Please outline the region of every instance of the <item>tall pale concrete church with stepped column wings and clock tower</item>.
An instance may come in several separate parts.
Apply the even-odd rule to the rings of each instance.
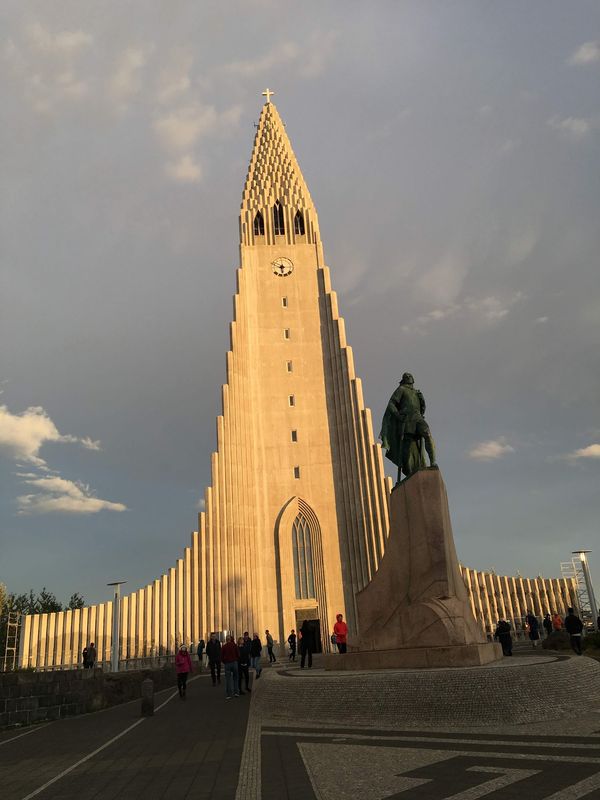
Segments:
[[[355,632],[356,593],[385,549],[391,480],[354,371],[317,212],[272,92],[264,94],[242,192],[227,382],[205,510],[175,566],[122,598],[121,659],[170,654],[211,631],[262,635],[268,628],[285,642],[305,619],[328,649],[336,614]],[[498,592],[485,573],[463,575],[476,617],[489,628],[500,607],[482,598]],[[562,610],[574,588],[553,583],[560,597],[553,608]],[[529,602],[545,613],[542,584],[527,597],[523,590]],[[106,602],[24,617],[19,665],[77,664],[89,642],[99,662],[109,662],[112,615]]]

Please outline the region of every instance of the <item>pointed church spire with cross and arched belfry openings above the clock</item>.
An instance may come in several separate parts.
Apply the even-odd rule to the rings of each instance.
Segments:
[[[292,145],[271,96],[258,120],[242,194],[242,244],[319,241],[317,214]]]

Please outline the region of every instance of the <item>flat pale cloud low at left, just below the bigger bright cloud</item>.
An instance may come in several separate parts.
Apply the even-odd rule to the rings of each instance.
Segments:
[[[65,480],[58,476],[37,477],[29,475],[25,480],[37,489],[35,494],[17,497],[19,514],[97,514],[99,511],[126,511],[123,503],[112,503],[94,497],[89,486]]]

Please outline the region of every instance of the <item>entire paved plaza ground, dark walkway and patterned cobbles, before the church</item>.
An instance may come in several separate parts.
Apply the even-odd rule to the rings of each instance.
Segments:
[[[600,800],[600,664],[528,651],[509,661],[491,668],[506,687],[505,721],[499,722],[498,698],[488,698],[496,716],[486,720],[482,698],[471,709],[473,720],[481,705],[477,724],[438,719],[425,697],[421,711],[417,702],[412,716],[396,714],[390,686],[408,687],[414,671],[348,681],[348,673],[325,673],[318,659],[310,671],[277,663],[264,669],[251,697],[229,701],[223,685],[213,689],[201,676],[185,702],[171,692],[157,695],[149,719],[139,717],[134,702],[5,731],[0,798]],[[566,705],[553,710],[551,693],[546,707],[530,704],[523,685],[532,676],[554,679],[559,673],[548,670],[571,667],[589,672],[587,697],[575,696],[571,711]],[[434,675],[440,689],[448,672]],[[467,682],[477,675],[467,673]],[[440,708],[448,708],[442,701]],[[517,702],[521,721],[515,724]]]

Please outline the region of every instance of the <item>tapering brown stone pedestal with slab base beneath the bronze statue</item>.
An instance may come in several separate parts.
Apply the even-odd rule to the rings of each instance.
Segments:
[[[440,471],[415,473],[390,503],[385,554],[357,595],[359,635],[346,655],[326,656],[325,668],[477,666],[501,658],[471,611]]]

